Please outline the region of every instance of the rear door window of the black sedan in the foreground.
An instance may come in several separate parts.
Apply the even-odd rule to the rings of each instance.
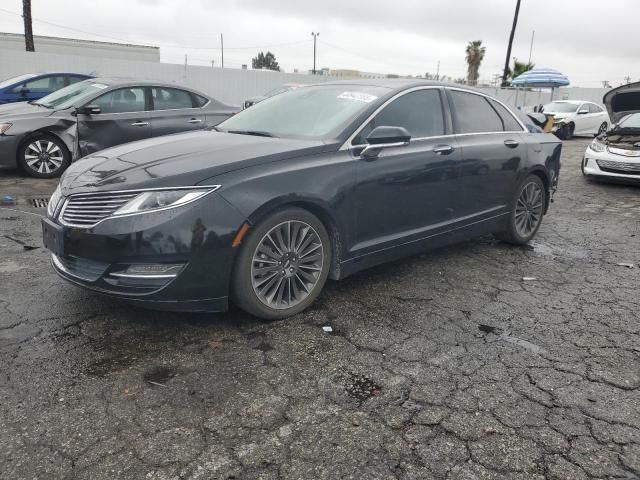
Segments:
[[[487,99],[473,93],[451,90],[458,122],[457,133],[502,132],[502,120]]]

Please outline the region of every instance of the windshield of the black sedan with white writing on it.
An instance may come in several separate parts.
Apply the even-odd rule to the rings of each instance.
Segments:
[[[218,125],[217,130],[313,140],[334,138],[389,91],[365,85],[296,88],[243,110]]]

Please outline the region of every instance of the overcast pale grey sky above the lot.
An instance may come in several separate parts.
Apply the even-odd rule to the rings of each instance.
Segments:
[[[152,44],[162,61],[251,64],[271,50],[285,71],[317,67],[466,76],[465,45],[482,40],[480,77],[500,73],[516,0],[32,0],[36,35]],[[21,0],[0,4],[0,31],[22,33]],[[572,85],[640,80],[640,0],[523,0],[512,57],[555,68]],[[63,28],[65,27],[65,28]],[[191,48],[196,47],[196,48]]]

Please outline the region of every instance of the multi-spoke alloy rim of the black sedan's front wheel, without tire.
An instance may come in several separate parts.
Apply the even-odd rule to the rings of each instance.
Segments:
[[[280,223],[262,237],[254,251],[253,291],[270,308],[291,308],[316,287],[323,262],[322,240],[311,225],[299,220]]]

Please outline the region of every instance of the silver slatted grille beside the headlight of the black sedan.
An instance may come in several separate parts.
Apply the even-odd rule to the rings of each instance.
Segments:
[[[62,223],[72,227],[92,227],[138,194],[104,192],[72,195],[62,208]]]

